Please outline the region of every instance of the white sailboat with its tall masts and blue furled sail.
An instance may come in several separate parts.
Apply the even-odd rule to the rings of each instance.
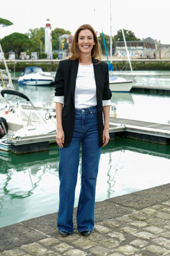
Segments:
[[[110,2],[111,2],[111,0],[110,0]],[[112,20],[112,17],[111,17],[111,20]],[[103,29],[102,29],[102,34],[103,34]],[[133,75],[131,60],[130,60],[128,48],[126,45],[126,40],[125,40],[123,29],[122,29],[122,34],[123,34],[124,44],[126,47],[128,61],[129,61],[130,67],[131,67],[132,75]],[[108,66],[109,66],[109,88],[111,89],[112,92],[129,93],[129,91],[131,90],[131,88],[133,86],[133,81],[127,81],[123,77],[114,76],[113,65],[112,65],[112,22],[111,22],[111,35],[110,35],[110,57],[111,57],[110,63],[108,60],[104,34],[103,34],[103,41],[104,41],[104,47],[105,47],[105,52],[106,52],[106,56],[107,56],[107,62],[108,62]]]

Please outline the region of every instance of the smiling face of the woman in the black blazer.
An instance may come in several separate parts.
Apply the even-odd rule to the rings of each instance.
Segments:
[[[93,33],[89,29],[81,30],[78,34],[77,45],[82,53],[91,52],[95,45]]]

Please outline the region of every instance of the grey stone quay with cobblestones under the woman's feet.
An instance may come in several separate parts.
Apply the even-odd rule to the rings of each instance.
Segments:
[[[28,209],[28,211],[31,209]],[[0,256],[170,256],[170,183],[95,203],[90,236],[61,236],[57,212],[0,228]]]

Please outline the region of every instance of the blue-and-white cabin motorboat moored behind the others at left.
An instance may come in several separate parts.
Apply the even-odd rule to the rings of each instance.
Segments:
[[[25,68],[18,79],[19,85],[51,85],[54,78],[50,72],[44,72],[40,67]]]

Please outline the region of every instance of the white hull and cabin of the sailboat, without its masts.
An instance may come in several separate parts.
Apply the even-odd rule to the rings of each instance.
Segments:
[[[117,93],[129,93],[133,86],[133,81],[127,81],[123,77],[109,76],[109,88]]]

